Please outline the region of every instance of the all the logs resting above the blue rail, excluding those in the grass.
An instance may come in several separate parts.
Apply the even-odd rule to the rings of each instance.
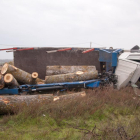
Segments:
[[[47,84],[85,81],[95,79],[98,71],[95,66],[47,66],[45,80],[38,78],[38,73],[23,71],[8,63],[4,64],[0,74],[0,89],[18,87],[21,84]]]

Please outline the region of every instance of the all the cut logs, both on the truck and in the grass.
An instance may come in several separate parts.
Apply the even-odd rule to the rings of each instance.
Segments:
[[[42,80],[38,78],[37,72],[30,74],[6,63],[1,69],[0,89],[4,87],[18,87],[21,84],[34,85],[91,80],[97,78],[98,72],[95,66],[47,66],[46,75],[45,80]],[[53,94],[0,96],[0,114],[11,112],[13,108],[19,106],[19,104],[29,106],[33,102],[73,100],[76,97],[84,96],[86,96],[85,92],[57,97],[53,96]]]

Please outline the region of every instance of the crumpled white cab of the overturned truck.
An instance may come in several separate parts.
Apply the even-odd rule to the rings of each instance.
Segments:
[[[118,89],[125,87],[129,82],[135,84],[140,77],[140,53],[122,53],[118,58],[115,74],[118,76]]]

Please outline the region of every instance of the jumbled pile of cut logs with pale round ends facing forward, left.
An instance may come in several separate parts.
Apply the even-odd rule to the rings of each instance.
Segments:
[[[0,89],[4,87],[18,87],[20,84],[43,84],[44,80],[38,78],[38,73],[32,74],[23,71],[8,63],[4,64],[0,74]]]

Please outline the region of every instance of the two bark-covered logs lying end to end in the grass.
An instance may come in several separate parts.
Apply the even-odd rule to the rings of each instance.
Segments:
[[[75,98],[85,96],[85,91],[56,97],[54,97],[53,94],[0,96],[0,114],[12,113],[18,108],[22,109],[23,107],[32,107],[37,103],[41,103],[41,105],[43,105],[53,101],[73,100]]]

